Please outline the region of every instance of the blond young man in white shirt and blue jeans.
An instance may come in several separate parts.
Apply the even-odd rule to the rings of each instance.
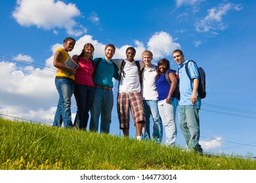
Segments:
[[[142,139],[150,139],[150,116],[153,118],[153,138],[156,142],[161,143],[163,139],[163,127],[160,114],[158,112],[158,90],[156,89],[156,80],[158,73],[157,66],[152,65],[153,54],[149,50],[142,53],[142,60],[145,67],[142,73],[141,95],[145,111],[146,124],[142,129]]]

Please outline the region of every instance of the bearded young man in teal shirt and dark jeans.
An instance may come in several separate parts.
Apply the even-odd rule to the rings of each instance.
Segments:
[[[90,130],[98,131],[98,119],[100,122],[100,133],[109,133],[111,124],[111,112],[114,105],[112,88],[114,87],[112,77],[119,79],[118,69],[114,66],[112,57],[116,47],[113,44],[105,46],[105,58],[96,66],[93,82],[95,84],[95,97],[91,107]],[[98,61],[98,58],[93,59]]]

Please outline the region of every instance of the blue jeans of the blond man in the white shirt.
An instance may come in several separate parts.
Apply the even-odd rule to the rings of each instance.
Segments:
[[[153,138],[156,139],[156,142],[161,143],[163,139],[163,126],[161,124],[160,114],[158,112],[158,101],[157,100],[144,100],[144,111],[146,126],[142,129],[142,139],[150,139],[150,116],[153,118]]]

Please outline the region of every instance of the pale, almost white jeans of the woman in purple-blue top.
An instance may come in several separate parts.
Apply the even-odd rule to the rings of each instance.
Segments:
[[[178,99],[171,97],[170,103],[164,101],[158,102],[158,110],[161,116],[161,121],[165,128],[165,144],[167,146],[174,146],[177,137],[177,127],[175,123],[176,110],[178,105]]]

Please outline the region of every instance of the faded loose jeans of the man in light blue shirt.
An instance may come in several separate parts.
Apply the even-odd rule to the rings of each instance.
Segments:
[[[200,123],[196,105],[179,106],[179,127],[190,150],[202,152],[199,144]]]

